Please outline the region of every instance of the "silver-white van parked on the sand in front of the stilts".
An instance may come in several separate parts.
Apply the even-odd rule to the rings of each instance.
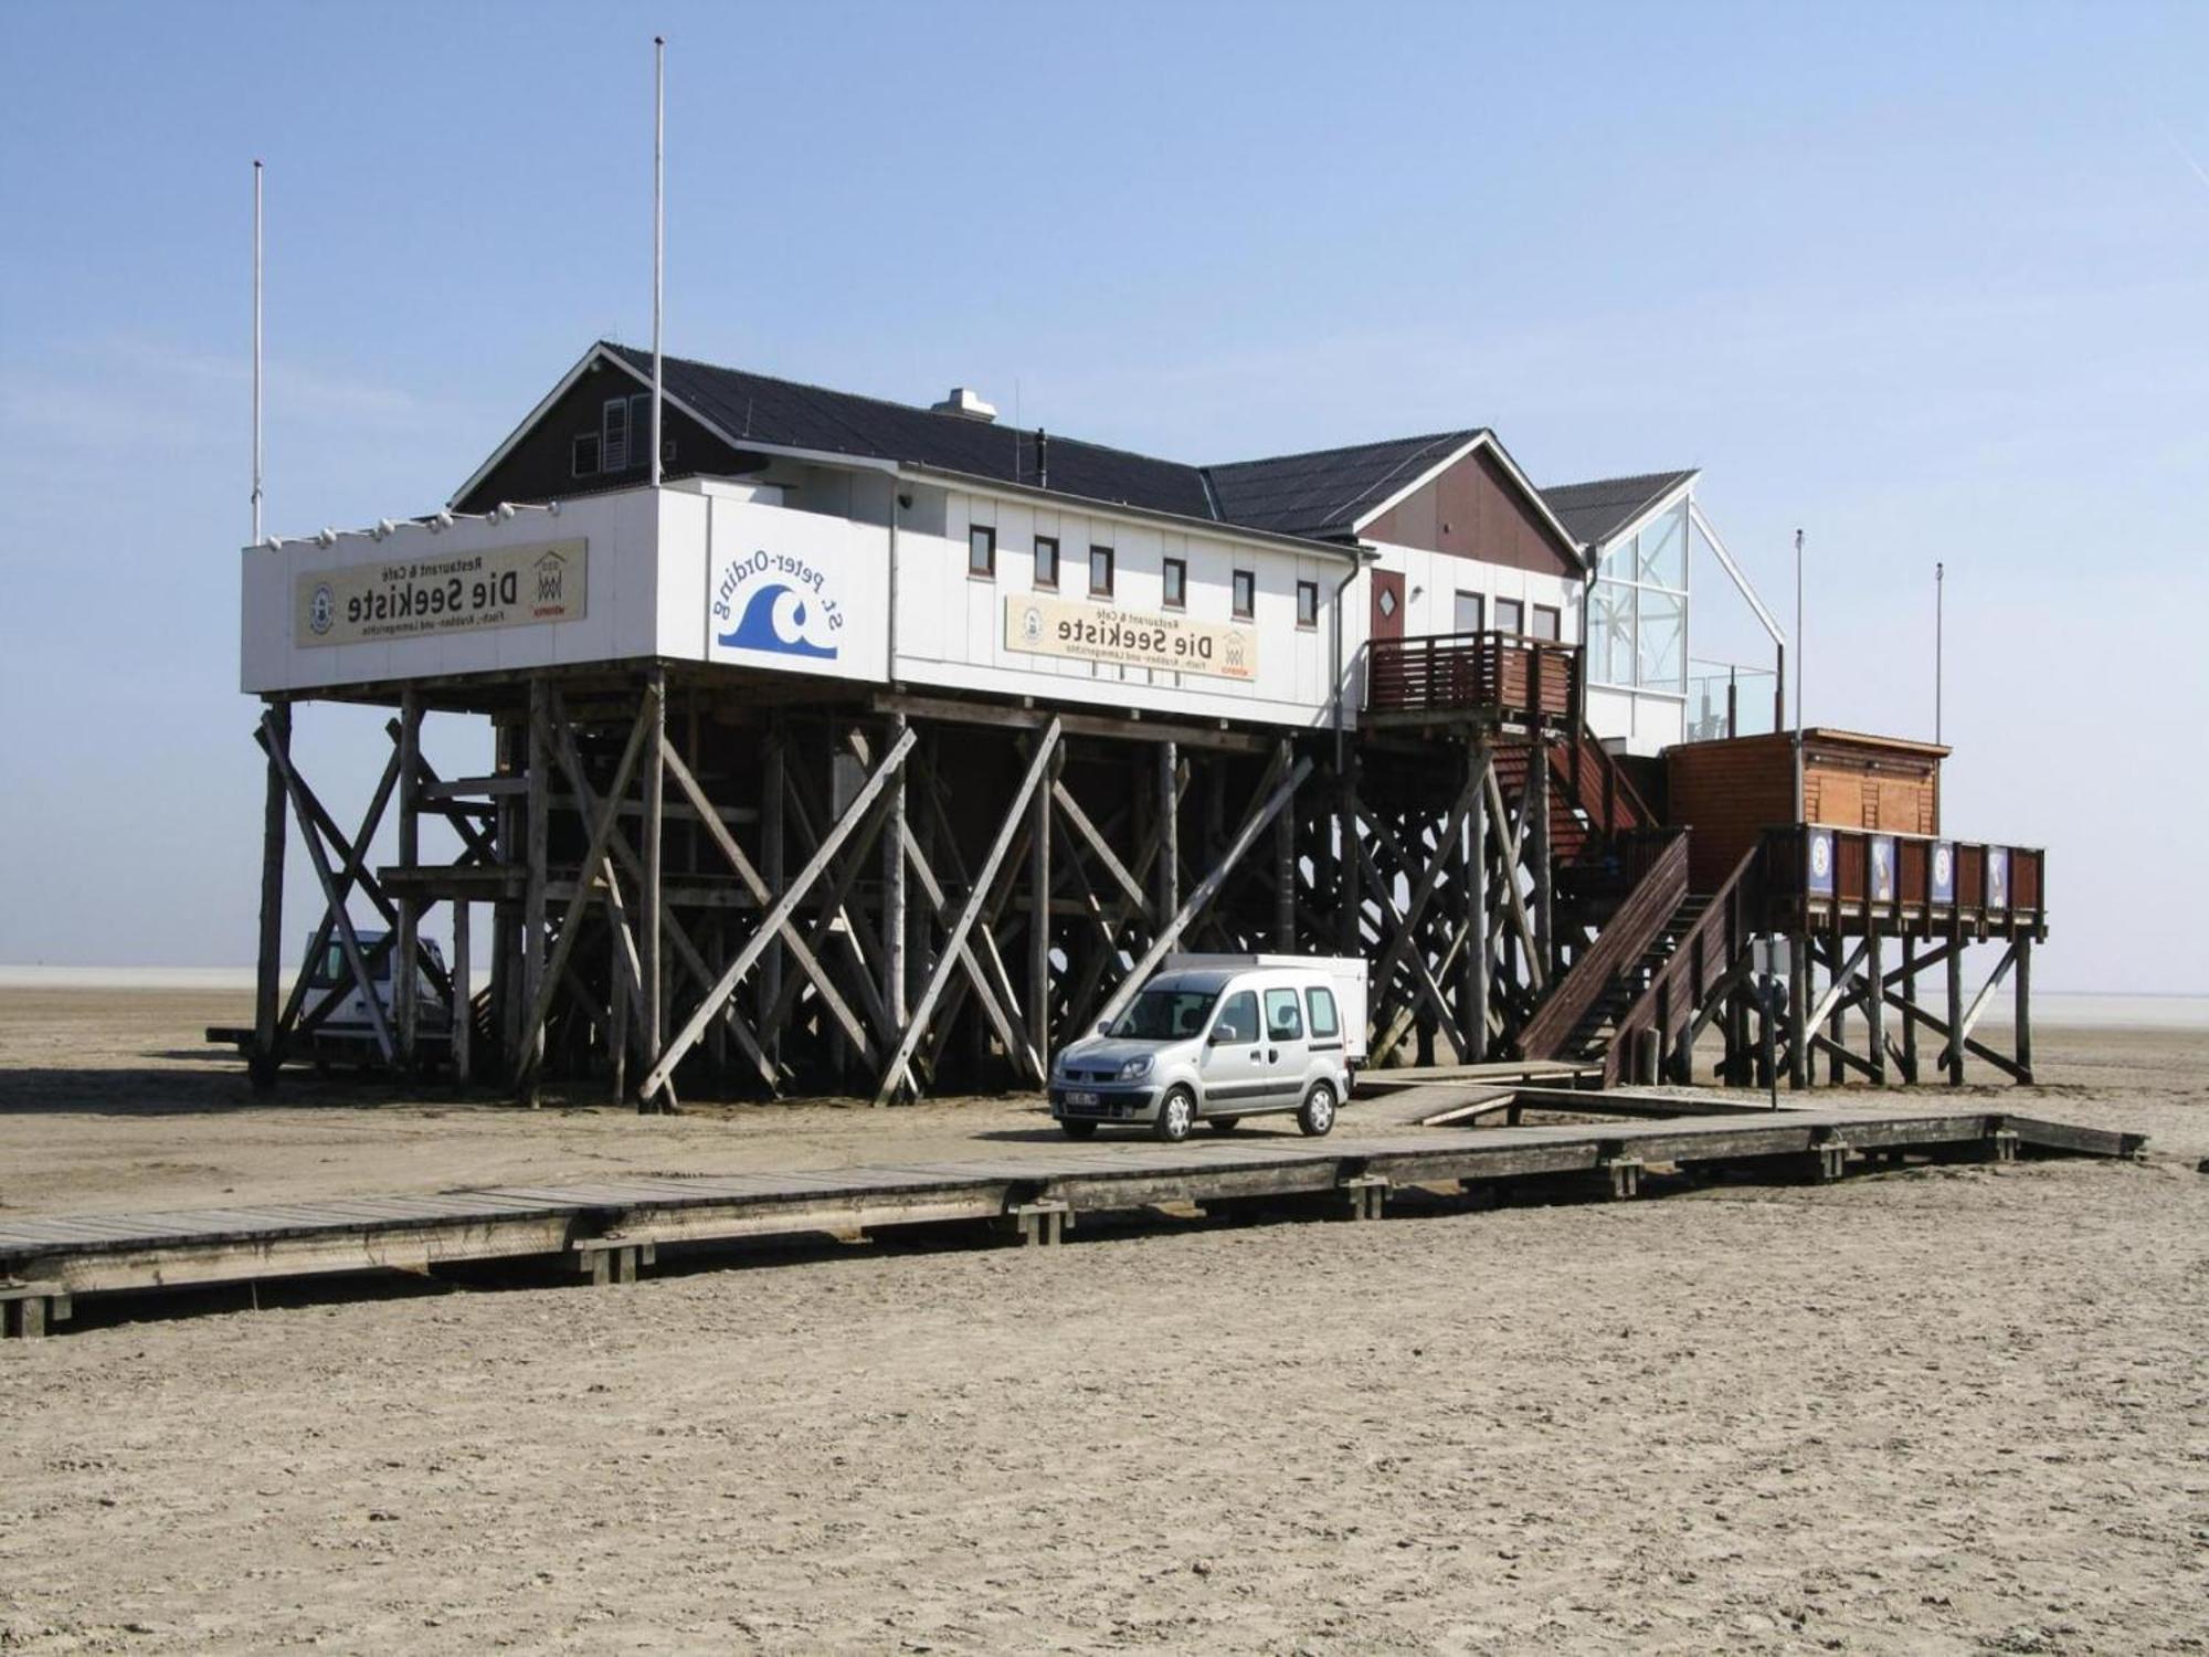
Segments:
[[[1186,1140],[1246,1116],[1325,1133],[1365,1056],[1365,963],[1303,954],[1169,957],[1127,1010],[1051,1065],[1051,1116]]]

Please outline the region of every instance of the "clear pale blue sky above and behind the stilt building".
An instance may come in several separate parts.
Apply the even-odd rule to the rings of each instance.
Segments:
[[[1809,535],[1831,725],[1931,733],[1944,559],[1946,828],[2050,848],[2041,985],[2209,988],[2209,4],[1862,0],[0,7],[0,961],[252,957],[252,157],[267,524],[426,510],[649,338],[654,31],[672,351],[1703,466],[1783,614]]]

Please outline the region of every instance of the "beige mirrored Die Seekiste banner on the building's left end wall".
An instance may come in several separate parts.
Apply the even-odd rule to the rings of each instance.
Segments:
[[[442,552],[296,581],[294,645],[358,645],[488,627],[581,621],[590,541],[537,541],[484,552]]]

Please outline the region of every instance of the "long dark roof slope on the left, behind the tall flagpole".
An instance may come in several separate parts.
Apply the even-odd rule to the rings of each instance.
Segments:
[[[607,345],[605,349],[638,373],[652,373],[649,351],[627,345]],[[895,460],[1001,484],[1038,486],[1034,431],[674,356],[663,358],[663,376],[669,398],[687,404],[736,444],[749,437],[780,448]],[[1175,517],[1213,517],[1204,477],[1195,466],[1131,455],[1124,448],[1085,444],[1056,433],[1043,453],[1054,495],[1118,502]]]

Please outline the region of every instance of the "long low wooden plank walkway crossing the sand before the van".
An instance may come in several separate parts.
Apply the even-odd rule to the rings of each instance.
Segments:
[[[1588,1096],[1586,1105],[1602,1109],[1604,1098]],[[552,1255],[594,1281],[630,1281],[663,1242],[990,1222],[1025,1242],[1049,1244],[1074,1215],[1155,1204],[1321,1195],[1339,1200],[1354,1217],[1376,1217],[1389,1189],[1414,1184],[1590,1175],[1599,1189],[1608,1182],[1610,1195],[1630,1197],[1639,1193],[1641,1169],[1652,1164],[1741,1162],[1840,1178],[1851,1160],[2010,1160],[2019,1147],[2129,1158],[2143,1144],[2136,1133],[2010,1111],[1789,1109],[1363,1140],[1067,1142],[903,1167],[627,1175],[440,1195],[0,1220],[0,1308],[11,1334],[42,1334],[71,1315],[75,1295],[263,1277],[426,1273],[477,1259]]]

